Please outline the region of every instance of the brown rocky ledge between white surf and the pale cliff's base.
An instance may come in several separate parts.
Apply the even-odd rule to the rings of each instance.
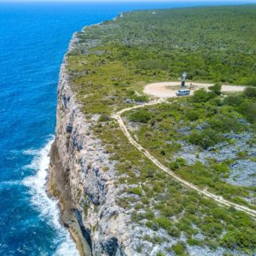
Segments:
[[[85,241],[73,209],[69,186],[63,176],[61,161],[55,146],[55,141],[51,145],[49,154],[49,195],[57,199],[58,205],[61,208],[61,224],[68,229],[79,251],[79,255],[91,256],[90,246]]]

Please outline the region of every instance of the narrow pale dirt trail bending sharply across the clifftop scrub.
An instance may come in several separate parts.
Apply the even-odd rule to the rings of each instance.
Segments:
[[[151,160],[154,163],[155,166],[159,167],[162,171],[164,171],[167,174],[174,177],[177,180],[177,182],[183,183],[183,185],[185,185],[187,188],[197,191],[199,194],[201,194],[201,195],[203,195],[207,198],[210,198],[213,201],[216,201],[220,205],[224,205],[226,207],[234,207],[238,211],[246,212],[247,214],[249,214],[253,217],[256,217],[256,211],[255,210],[250,209],[249,207],[244,207],[244,206],[238,205],[238,204],[233,203],[231,201],[227,201],[222,196],[214,195],[211,192],[208,192],[207,189],[200,189],[197,186],[195,186],[195,184],[189,183],[188,181],[184,180],[182,177],[177,176],[177,174],[175,174],[174,172],[171,171],[171,169],[169,169],[166,166],[164,166],[163,164],[161,164],[160,161],[157,160],[156,158],[154,158],[154,156],[152,154],[150,154],[147,149],[143,148],[142,145],[137,143],[131,137],[131,133],[128,131],[127,127],[125,126],[125,122],[121,117],[122,114],[127,112],[127,111],[131,111],[132,109],[143,108],[143,107],[146,107],[146,106],[152,106],[152,105],[155,105],[155,104],[160,104],[162,102],[165,102],[165,99],[161,98],[160,100],[155,100],[155,101],[152,101],[152,102],[143,103],[141,105],[137,105],[137,106],[134,106],[134,107],[131,107],[131,108],[124,108],[124,109],[120,110],[119,112],[113,114],[113,118],[118,121],[121,130],[124,132],[125,137],[127,137],[129,142],[132,145],[134,145],[140,152],[142,152],[149,160]]]

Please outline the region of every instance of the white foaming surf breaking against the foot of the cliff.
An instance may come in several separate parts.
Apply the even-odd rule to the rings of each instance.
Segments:
[[[32,160],[30,168],[36,171],[35,175],[26,177],[23,180],[23,184],[29,188],[29,192],[32,195],[32,206],[36,207],[40,212],[40,217],[44,218],[55,230],[56,239],[60,242],[54,255],[70,255],[77,256],[79,252],[76,248],[74,241],[72,240],[67,229],[60,223],[60,209],[55,199],[49,198],[47,195],[47,178],[49,167],[49,150],[54,141],[54,137],[51,137],[48,143],[37,152]],[[27,167],[27,166],[26,166]]]

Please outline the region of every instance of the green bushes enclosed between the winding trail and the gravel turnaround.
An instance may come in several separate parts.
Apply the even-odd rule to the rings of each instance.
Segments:
[[[195,95],[189,98],[135,109],[131,113],[126,113],[127,118],[130,122],[140,124],[136,132],[139,143],[178,175],[200,187],[206,186],[207,189],[230,201],[255,208],[243,199],[254,193],[255,189],[231,185],[223,180],[230,175],[229,165],[232,161],[217,162],[213,159],[208,160],[207,164],[197,161],[195,164],[187,165],[183,158],[177,157],[173,160],[173,154],[182,148],[180,143],[195,144],[199,146],[197,150],[200,152],[218,143],[234,143],[226,136],[230,132],[239,134],[250,131],[256,136],[253,119],[256,113],[254,116],[252,112],[244,111],[245,104],[256,104],[253,98],[256,88],[248,88],[250,93],[245,90],[240,95],[223,97],[216,93],[221,86],[212,87],[209,92],[197,90]],[[141,113],[147,113],[148,119],[131,118],[140,116]],[[244,119],[252,123],[242,121]],[[236,157],[247,159],[247,153],[237,152]]]

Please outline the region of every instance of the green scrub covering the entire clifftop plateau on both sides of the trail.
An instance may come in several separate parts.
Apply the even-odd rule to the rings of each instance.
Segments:
[[[254,5],[156,10],[154,14],[137,11],[77,34],[79,44],[67,55],[69,79],[86,117],[99,116],[93,123],[93,134],[116,163],[116,186],[125,188],[119,192],[118,203],[132,212],[131,222],[154,232],[164,229],[177,240],[183,232],[190,245],[223,246],[247,254],[256,250],[252,218],[185,189],[134,148],[111,118],[112,113],[131,107],[133,102],[148,102],[148,96],[137,93],[144,84],[177,79],[183,70],[193,80],[256,85],[255,14]],[[199,90],[192,98],[137,109],[127,113],[127,119],[139,126],[140,143],[166,165],[175,166],[177,174],[235,201],[234,195],[247,195],[248,191],[221,181],[220,177],[229,174],[227,164],[212,161],[209,166],[188,166],[183,159],[173,162],[170,155],[181,148],[180,141],[201,148],[231,143],[223,132],[251,129],[237,120],[255,123],[253,102],[248,91],[245,96],[223,100],[216,84],[210,92]],[[177,132],[186,125],[191,126],[195,141],[189,133]],[[241,236],[244,232],[248,236]],[[203,238],[196,240],[196,234]],[[163,241],[158,236],[141,239]],[[181,241],[168,250],[186,255]],[[137,252],[142,251],[137,247]]]

